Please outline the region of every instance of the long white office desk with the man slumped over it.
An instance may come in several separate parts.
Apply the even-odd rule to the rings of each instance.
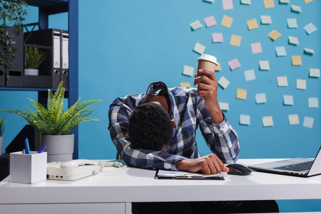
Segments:
[[[255,164],[282,159],[240,159]],[[321,176],[252,172],[225,181],[156,180],[155,171],[128,167],[118,175],[36,184],[0,182],[0,213],[131,213],[130,202],[321,199]],[[191,194],[191,192],[193,192]],[[72,211],[67,211],[72,210]],[[321,210],[320,210],[321,211]]]

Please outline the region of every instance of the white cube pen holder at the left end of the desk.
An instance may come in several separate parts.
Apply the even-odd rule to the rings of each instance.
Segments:
[[[32,184],[47,179],[47,152],[10,153],[10,182]]]

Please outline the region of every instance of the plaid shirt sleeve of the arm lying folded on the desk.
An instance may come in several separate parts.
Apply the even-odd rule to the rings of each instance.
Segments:
[[[129,166],[148,169],[178,170],[176,162],[186,159],[167,152],[131,148],[128,135],[128,118],[132,110],[125,104],[112,104],[109,109],[110,137]]]

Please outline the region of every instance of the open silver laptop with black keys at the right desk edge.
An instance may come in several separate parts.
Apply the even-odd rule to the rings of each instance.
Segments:
[[[275,161],[248,166],[262,172],[285,174],[287,176],[310,177],[321,174],[321,147],[315,159],[293,158],[284,161]]]

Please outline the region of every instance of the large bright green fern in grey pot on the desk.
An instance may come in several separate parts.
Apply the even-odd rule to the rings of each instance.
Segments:
[[[71,130],[86,121],[97,121],[97,118],[89,117],[93,110],[87,107],[102,100],[89,100],[80,103],[79,98],[66,112],[64,112],[65,88],[63,81],[53,93],[48,89],[47,108],[42,104],[29,99],[36,111],[24,106],[27,111],[0,110],[22,116],[39,134],[41,134],[41,146],[47,145],[48,162],[65,162],[72,160],[74,134]]]

